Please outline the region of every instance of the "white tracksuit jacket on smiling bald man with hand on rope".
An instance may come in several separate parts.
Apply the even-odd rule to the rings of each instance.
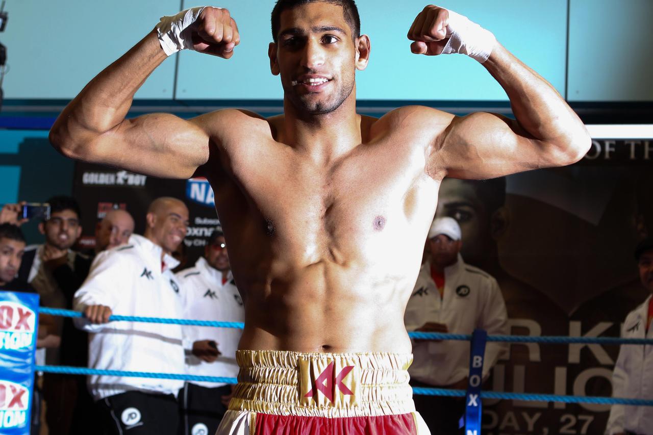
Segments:
[[[88,278],[75,293],[74,309],[101,304],[113,314],[181,318],[183,299],[171,269],[178,261],[163,257],[161,247],[133,234],[129,244],[103,251],[95,257]],[[182,327],[161,323],[112,321],[91,325],[75,319],[77,327],[92,332],[89,337],[90,368],[182,374],[184,347]],[[144,391],[177,395],[183,381],[173,379],[89,376],[89,391],[95,400]]]

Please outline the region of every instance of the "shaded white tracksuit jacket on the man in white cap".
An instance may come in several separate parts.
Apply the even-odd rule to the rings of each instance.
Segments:
[[[483,270],[458,261],[445,268],[445,289],[440,298],[428,261],[422,265],[404,315],[406,329],[418,329],[426,322],[444,323],[451,334],[471,334],[485,329],[488,334],[507,334],[507,314],[499,285]],[[507,344],[488,342],[483,377],[507,350]],[[411,378],[434,386],[451,385],[469,374],[470,342],[460,340],[413,341]]]

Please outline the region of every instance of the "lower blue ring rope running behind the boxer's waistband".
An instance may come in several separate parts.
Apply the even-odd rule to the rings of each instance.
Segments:
[[[99,376],[119,376],[123,378],[155,378],[155,379],[177,379],[180,381],[200,381],[200,382],[219,382],[219,383],[237,383],[236,378],[221,378],[217,376],[198,376],[175,373],[155,373],[155,372],[125,372],[121,370],[99,370],[97,368],[82,368],[69,366],[35,366],[37,372],[73,374],[73,375],[99,375]],[[413,387],[413,393],[425,396],[450,396],[464,397],[465,390],[450,390],[443,388],[423,388]],[[632,399],[620,397],[596,397],[596,396],[560,396],[560,395],[536,395],[529,393],[507,393],[500,391],[481,391],[481,398],[503,399],[503,400],[537,400],[544,402],[564,402],[564,403],[592,403],[592,404],[622,404],[633,406],[653,406],[653,400]]]

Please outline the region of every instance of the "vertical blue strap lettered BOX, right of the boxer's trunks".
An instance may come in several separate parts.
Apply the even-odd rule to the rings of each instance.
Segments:
[[[475,329],[471,334],[470,377],[465,395],[465,434],[481,435],[481,384],[483,383],[483,359],[488,333]],[[462,427],[462,418],[460,422]]]

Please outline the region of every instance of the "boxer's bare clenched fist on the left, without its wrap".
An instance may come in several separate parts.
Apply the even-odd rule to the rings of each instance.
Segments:
[[[229,10],[205,7],[191,33],[193,50],[229,59],[240,44],[238,26]]]

